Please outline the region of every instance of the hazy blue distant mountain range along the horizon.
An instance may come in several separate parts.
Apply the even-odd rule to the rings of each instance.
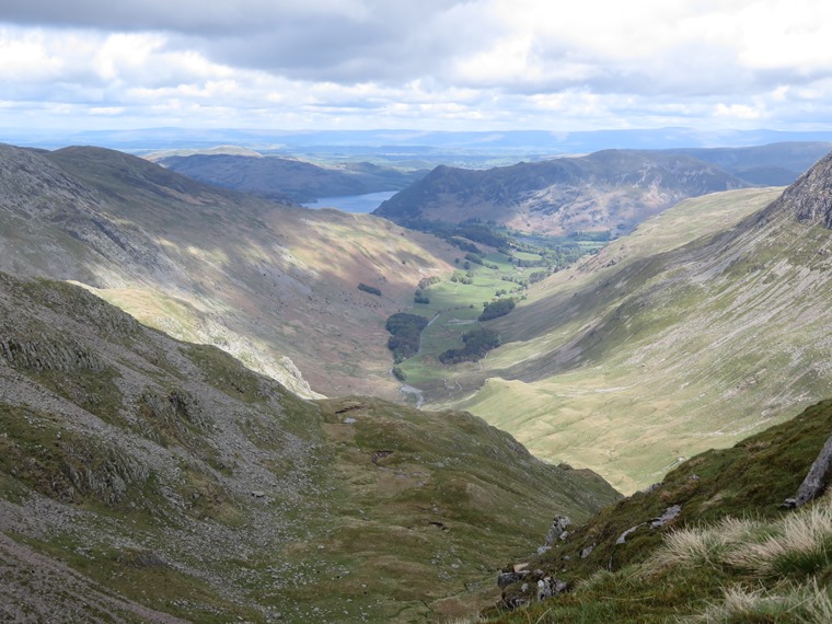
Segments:
[[[151,152],[163,149],[211,148],[218,145],[244,146],[257,151],[297,154],[389,153],[397,157],[453,153],[580,154],[604,149],[728,148],[761,146],[784,141],[832,142],[832,131],[713,130],[657,128],[628,130],[562,131],[490,130],[429,131],[416,129],[375,130],[263,130],[145,128],[139,130],[33,130],[3,128],[4,141],[22,146],[60,148],[94,145],[127,151]],[[403,150],[404,148],[404,150]],[[406,151],[407,153],[403,153]],[[522,157],[521,158],[525,158]]]

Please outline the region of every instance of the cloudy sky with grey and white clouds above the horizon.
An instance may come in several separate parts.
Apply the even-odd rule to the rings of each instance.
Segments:
[[[0,128],[832,129],[829,0],[1,0]]]

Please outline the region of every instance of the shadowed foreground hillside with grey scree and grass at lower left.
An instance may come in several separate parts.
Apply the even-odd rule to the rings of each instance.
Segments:
[[[0,391],[4,620],[461,615],[553,515],[617,497],[467,414],[302,401],[81,288],[4,274]]]

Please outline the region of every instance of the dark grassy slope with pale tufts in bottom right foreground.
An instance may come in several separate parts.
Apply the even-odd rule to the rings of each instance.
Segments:
[[[824,401],[733,448],[689,460],[660,487],[605,508],[530,561],[530,568],[568,581],[574,591],[488,621],[646,624],[689,621],[716,604],[721,613],[710,608],[704,621],[827,622],[828,610],[810,611],[816,599],[830,603],[832,498],[798,511],[781,504],[796,494],[830,431],[832,402]],[[680,516],[650,528],[672,505],[682,506]],[[582,558],[590,545],[594,550]],[[800,594],[800,588],[809,591]],[[506,597],[520,589],[509,588]],[[744,613],[725,613],[724,594],[733,592],[756,594],[741,601]]]

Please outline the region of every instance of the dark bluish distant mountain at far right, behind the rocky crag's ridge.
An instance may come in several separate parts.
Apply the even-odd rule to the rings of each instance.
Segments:
[[[686,154],[715,164],[760,186],[786,186],[832,151],[832,143],[793,141],[744,148],[682,148],[668,153]]]

